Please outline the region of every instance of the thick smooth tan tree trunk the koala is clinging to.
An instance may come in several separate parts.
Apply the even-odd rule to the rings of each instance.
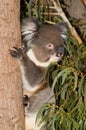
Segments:
[[[22,84],[9,49],[19,45],[19,0],[0,0],[0,130],[24,130]]]

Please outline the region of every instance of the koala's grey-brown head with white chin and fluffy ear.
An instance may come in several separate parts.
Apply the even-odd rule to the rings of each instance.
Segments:
[[[37,20],[23,21],[23,44],[28,48],[28,57],[37,66],[47,67],[51,62],[62,59],[64,40],[61,33],[64,30],[62,30],[63,25],[60,26],[61,29],[58,25],[42,24]]]

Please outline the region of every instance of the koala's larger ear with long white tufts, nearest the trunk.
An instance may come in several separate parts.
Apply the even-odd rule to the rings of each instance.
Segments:
[[[36,19],[25,18],[21,23],[21,36],[23,45],[30,48],[30,43],[35,38],[41,23]]]

